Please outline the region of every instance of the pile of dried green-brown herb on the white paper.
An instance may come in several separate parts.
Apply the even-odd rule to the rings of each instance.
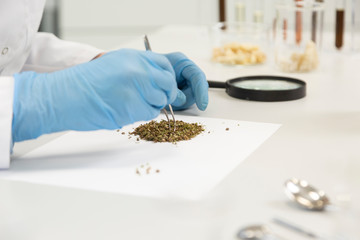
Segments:
[[[199,135],[205,129],[198,123],[186,123],[176,120],[176,130],[174,131],[174,121],[161,120],[160,122],[151,121],[135,128],[131,135],[139,136],[141,139],[152,142],[171,142],[190,140]]]

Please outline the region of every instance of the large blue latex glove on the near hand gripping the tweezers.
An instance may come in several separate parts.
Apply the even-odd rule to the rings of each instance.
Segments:
[[[168,59],[153,52],[118,50],[65,70],[14,77],[14,142],[65,130],[118,129],[186,101]]]

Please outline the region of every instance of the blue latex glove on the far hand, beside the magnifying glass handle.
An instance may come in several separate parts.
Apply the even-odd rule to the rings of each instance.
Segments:
[[[165,54],[173,66],[178,88],[185,94],[186,102],[179,97],[171,105],[175,110],[186,109],[196,103],[204,111],[208,105],[208,88],[205,74],[182,53]]]

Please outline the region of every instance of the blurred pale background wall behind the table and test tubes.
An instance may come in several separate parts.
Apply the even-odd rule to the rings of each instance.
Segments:
[[[236,1],[240,0],[226,1],[227,20],[235,20]],[[279,0],[242,1],[247,5],[248,20],[251,19],[251,5],[260,2],[264,20],[270,24]],[[334,29],[335,1],[324,0],[327,31]],[[350,29],[352,1],[346,0],[347,31]],[[355,8],[360,22],[360,0],[354,1],[358,4]],[[47,0],[42,30],[53,32],[55,29],[63,39],[110,49],[164,25],[214,24],[219,19],[218,6],[218,0]]]

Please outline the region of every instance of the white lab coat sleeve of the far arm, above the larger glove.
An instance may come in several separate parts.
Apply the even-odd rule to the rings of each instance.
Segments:
[[[51,72],[88,62],[104,52],[93,46],[65,41],[51,33],[35,35],[22,71]]]

